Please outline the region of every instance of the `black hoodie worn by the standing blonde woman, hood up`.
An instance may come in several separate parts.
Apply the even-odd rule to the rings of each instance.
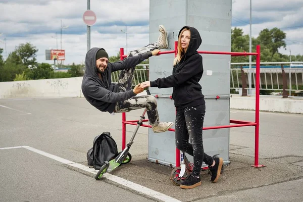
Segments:
[[[188,48],[180,62],[174,66],[173,74],[166,78],[159,78],[150,82],[151,87],[173,87],[173,99],[176,108],[194,107],[205,104],[204,95],[201,92],[199,81],[203,75],[202,56],[198,54],[202,39],[194,27],[184,26],[190,30]]]

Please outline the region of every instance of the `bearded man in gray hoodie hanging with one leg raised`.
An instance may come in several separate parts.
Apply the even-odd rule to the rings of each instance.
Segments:
[[[161,48],[168,47],[167,32],[163,25],[159,26],[158,41],[128,53],[123,61],[109,62],[104,48],[91,48],[85,57],[86,71],[82,80],[82,92],[86,100],[102,112],[129,112],[146,108],[149,124],[155,133],[165,132],[173,126],[173,122],[160,122],[157,101],[154,96],[135,96],[143,91],[140,84],[132,90],[132,77],[135,66],[143,60],[155,56]],[[111,73],[119,71],[118,83],[112,83]]]

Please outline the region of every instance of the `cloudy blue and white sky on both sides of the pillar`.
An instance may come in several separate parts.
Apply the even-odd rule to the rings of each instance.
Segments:
[[[249,34],[249,4],[249,0],[232,1],[232,27],[242,28],[244,34]],[[126,34],[121,31],[126,28],[128,51],[148,43],[149,0],[90,0],[90,9],[97,17],[91,26],[91,47],[105,47],[110,56],[117,55],[120,47],[126,47]],[[65,64],[83,63],[86,25],[82,16],[86,10],[86,0],[0,0],[4,58],[15,46],[30,42],[39,49],[38,62],[53,63],[45,60],[45,49],[60,49],[62,44]],[[291,55],[303,55],[302,19],[302,0],[252,0],[252,36],[264,28],[282,29],[287,49],[280,53],[288,55],[291,50]]]

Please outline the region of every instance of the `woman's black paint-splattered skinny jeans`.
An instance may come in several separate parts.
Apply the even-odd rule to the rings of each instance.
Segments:
[[[210,166],[213,164],[213,158],[205,154],[203,149],[205,104],[176,111],[176,147],[193,156],[192,175],[199,176],[203,162]]]

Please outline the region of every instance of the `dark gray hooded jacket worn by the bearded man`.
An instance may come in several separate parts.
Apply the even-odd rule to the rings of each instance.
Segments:
[[[145,54],[139,54],[138,56],[126,58],[123,61],[108,63],[106,70],[102,73],[103,80],[101,80],[98,77],[96,68],[96,54],[99,49],[103,48],[93,47],[86,54],[86,70],[81,88],[84,97],[92,106],[102,112],[112,113],[117,102],[135,96],[135,93],[132,90],[119,92],[119,86],[116,83],[112,83],[112,72],[134,67],[152,56],[152,54],[151,52],[147,52]]]

